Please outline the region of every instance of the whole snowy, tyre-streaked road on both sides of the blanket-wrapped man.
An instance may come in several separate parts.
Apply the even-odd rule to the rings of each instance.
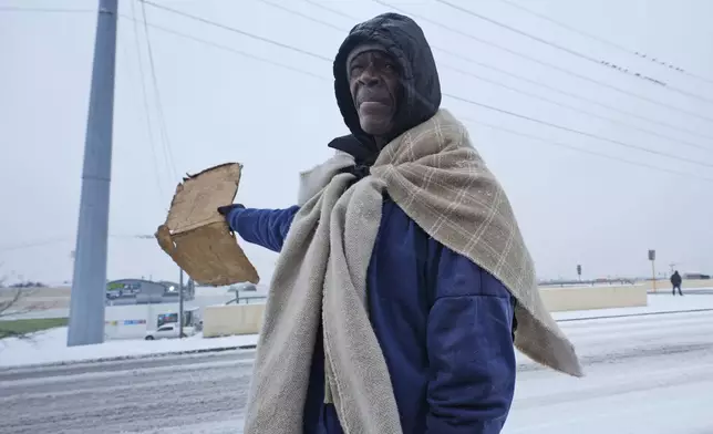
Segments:
[[[588,375],[520,358],[505,434],[713,433],[713,312],[561,326]],[[254,356],[0,370],[0,433],[240,433]]]

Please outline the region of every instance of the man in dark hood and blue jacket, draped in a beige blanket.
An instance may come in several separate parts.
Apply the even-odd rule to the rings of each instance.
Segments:
[[[386,13],[356,25],[333,70],[351,134],[301,175],[298,206],[219,209],[246,241],[281,252],[245,432],[499,433],[515,314],[520,349],[581,374],[509,204],[440,110],[414,21]]]

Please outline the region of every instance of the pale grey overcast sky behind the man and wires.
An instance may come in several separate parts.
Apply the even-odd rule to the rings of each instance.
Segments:
[[[257,0],[155,1],[330,59],[351,25],[390,9],[370,0],[316,1],[339,12],[334,13],[302,0],[279,1],[297,13],[327,21],[322,24]],[[670,262],[678,262],[676,268],[685,271],[713,271],[713,2],[512,0],[580,31],[683,68],[686,74],[498,0],[450,1],[630,71],[613,71],[436,1],[389,0],[432,20],[414,17],[433,45],[457,55],[434,50],[444,92],[620,142],[595,140],[444,97],[443,107],[469,120],[466,124],[473,142],[508,193],[540,278],[575,277],[577,264],[582,265],[586,278],[647,275],[651,272],[647,261],[650,248],[658,250],[661,271],[668,270]],[[76,232],[96,24],[92,12],[18,12],[8,8],[92,10],[95,3],[0,0],[0,275],[52,282],[71,279],[70,252]],[[141,4],[134,7],[141,20]],[[134,13],[131,0],[121,0],[120,8],[125,17]],[[240,162],[245,169],[237,202],[249,207],[287,207],[296,199],[298,172],[328,158],[331,153],[327,143],[345,132],[334,102],[330,62],[152,6],[146,6],[146,13],[151,24],[223,48],[149,28],[168,138],[163,142],[143,22],[135,28],[133,21],[120,19],[108,251],[112,279],[177,278],[175,265],[155,240],[128,237],[154,232],[165,218],[182,174]],[[633,72],[666,85],[638,79]],[[473,74],[617,123],[507,90]],[[276,256],[242,245],[267,283]]]

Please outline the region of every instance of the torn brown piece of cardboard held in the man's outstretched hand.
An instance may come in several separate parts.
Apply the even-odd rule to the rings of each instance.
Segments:
[[[258,283],[257,270],[218,213],[232,204],[242,165],[228,163],[184,178],[166,223],[156,230],[161,248],[199,285]]]

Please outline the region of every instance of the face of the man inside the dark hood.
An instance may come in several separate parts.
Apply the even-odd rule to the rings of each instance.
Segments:
[[[364,133],[381,137],[394,127],[401,73],[396,62],[381,51],[365,51],[348,66],[349,89]]]

